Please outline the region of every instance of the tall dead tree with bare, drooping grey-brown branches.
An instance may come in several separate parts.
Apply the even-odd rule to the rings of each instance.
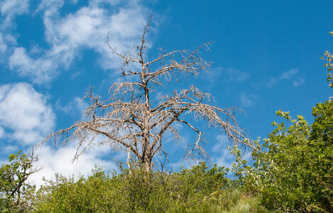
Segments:
[[[208,49],[210,43],[201,45],[196,50],[174,50],[166,53],[161,50],[158,58],[147,57],[146,34],[149,31],[151,17],[144,27],[140,45],[130,54],[115,55],[123,59],[122,73],[129,81],[115,82],[109,89],[109,99],[102,100],[93,94],[92,89],[86,94],[91,105],[85,111],[87,121],[77,121],[68,129],[62,129],[46,138],[62,140],[67,143],[78,139],[77,153],[74,159],[84,153],[86,148],[107,144],[115,150],[125,148],[132,153],[145,170],[152,169],[152,158],[157,153],[164,153],[165,136],[171,133],[179,138],[176,123],[188,126],[197,134],[195,143],[188,145],[187,155],[199,153],[206,155],[203,143],[204,133],[194,126],[189,118],[205,121],[208,126],[222,129],[235,143],[243,141],[243,133],[235,121],[235,108],[220,109],[210,105],[210,94],[201,92],[194,86],[173,94],[164,94],[155,102],[152,94],[173,81],[181,80],[181,75],[195,75],[206,71],[210,63],[201,58],[200,51]],[[195,122],[194,122],[195,123]],[[96,136],[105,140],[96,143]]]

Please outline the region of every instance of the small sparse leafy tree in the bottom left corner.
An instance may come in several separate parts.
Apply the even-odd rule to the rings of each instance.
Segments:
[[[28,177],[35,173],[34,158],[27,155],[9,155],[9,164],[0,168],[0,211],[25,212],[31,209],[35,186],[29,185]]]

